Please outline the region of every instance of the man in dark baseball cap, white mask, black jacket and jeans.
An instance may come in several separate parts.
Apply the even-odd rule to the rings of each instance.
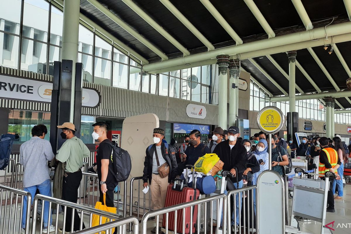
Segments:
[[[230,127],[228,129],[228,140],[220,142],[213,151],[224,162],[223,171],[229,171],[234,176],[231,180],[236,189],[243,187],[243,172],[246,170],[247,162],[247,151],[241,142],[238,142],[239,136],[239,128],[236,126]],[[236,196],[236,220],[234,220],[235,214],[232,212],[232,233],[239,232],[239,202],[241,203],[241,194]],[[234,208],[231,207],[231,211],[233,210]]]

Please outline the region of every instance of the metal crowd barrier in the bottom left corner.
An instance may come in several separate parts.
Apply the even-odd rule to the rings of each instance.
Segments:
[[[29,233],[32,196],[30,193],[0,185],[0,230],[2,234],[21,233],[23,210],[26,209],[25,234]],[[27,206],[23,199],[27,197]]]

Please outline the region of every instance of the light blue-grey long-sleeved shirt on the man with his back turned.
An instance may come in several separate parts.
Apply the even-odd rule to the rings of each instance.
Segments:
[[[54,158],[50,142],[33,136],[20,147],[19,163],[23,165],[23,187],[40,185],[50,179],[47,161]]]

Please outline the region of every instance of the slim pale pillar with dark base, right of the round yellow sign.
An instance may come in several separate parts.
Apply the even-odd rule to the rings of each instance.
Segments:
[[[292,124],[292,119],[293,119],[293,112],[295,112],[295,95],[296,95],[296,83],[295,83],[295,61],[296,61],[296,51],[289,51],[287,52],[287,56],[289,58],[289,112],[290,112],[290,119],[291,119],[291,124],[289,126],[290,128],[290,138],[294,139],[294,133],[293,133],[293,124]]]

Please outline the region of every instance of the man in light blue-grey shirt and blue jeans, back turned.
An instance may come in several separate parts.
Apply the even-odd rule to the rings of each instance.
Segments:
[[[51,180],[49,175],[49,168],[47,161],[51,161],[54,158],[50,142],[44,140],[47,134],[47,128],[45,125],[36,125],[32,128],[31,140],[23,143],[20,147],[20,158],[19,162],[23,165],[23,187],[26,192],[29,192],[34,198],[35,192],[39,189],[39,193],[45,196],[51,196]],[[33,202],[33,200],[32,200]],[[32,204],[31,204],[32,205]],[[31,206],[28,205],[28,206]],[[22,223],[21,233],[25,233],[25,226],[27,215],[27,197],[23,199],[23,212],[22,212]],[[44,216],[42,229],[43,233],[54,232],[55,227],[51,225],[52,215],[49,219],[49,202],[44,202]],[[49,227],[48,227],[49,226]]]

